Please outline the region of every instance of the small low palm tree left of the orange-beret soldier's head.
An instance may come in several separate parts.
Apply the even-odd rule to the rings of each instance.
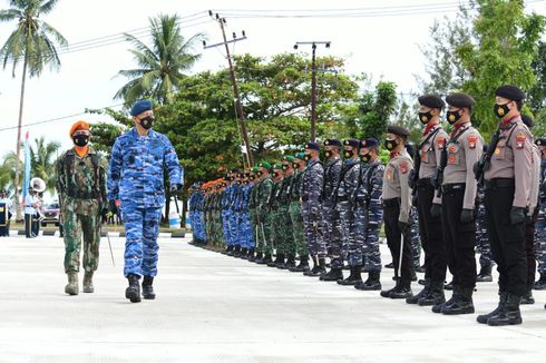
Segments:
[[[35,148],[30,148],[30,163],[32,175],[42,178],[46,182],[47,190],[55,192],[55,182],[57,176],[55,175],[55,160],[57,159],[57,151],[60,148],[58,141],[46,143],[43,137],[35,139]]]

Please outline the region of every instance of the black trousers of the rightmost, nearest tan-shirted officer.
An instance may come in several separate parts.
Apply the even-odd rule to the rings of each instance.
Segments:
[[[486,215],[493,258],[500,275],[499,290],[524,295],[527,291],[525,223],[510,223],[514,193],[514,186],[486,188]]]

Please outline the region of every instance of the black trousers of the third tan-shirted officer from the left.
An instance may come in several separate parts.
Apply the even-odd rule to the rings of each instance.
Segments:
[[[476,223],[460,222],[465,188],[443,192],[441,199],[441,226],[446,243],[446,257],[454,275],[454,286],[476,286]]]

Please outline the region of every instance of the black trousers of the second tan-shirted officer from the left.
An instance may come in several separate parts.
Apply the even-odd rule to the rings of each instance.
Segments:
[[[433,282],[446,279],[446,246],[441,233],[441,216],[432,217],[430,207],[435,198],[435,188],[430,184],[418,186],[417,212],[419,213],[419,234],[425,251],[425,277]]]

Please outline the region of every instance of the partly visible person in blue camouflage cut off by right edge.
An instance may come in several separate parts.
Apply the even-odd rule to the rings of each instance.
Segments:
[[[538,263],[537,269],[540,278],[535,283],[533,288],[546,290],[546,190],[544,188],[546,183],[546,138],[537,138],[535,144],[540,150],[540,193],[535,244],[535,254]]]

